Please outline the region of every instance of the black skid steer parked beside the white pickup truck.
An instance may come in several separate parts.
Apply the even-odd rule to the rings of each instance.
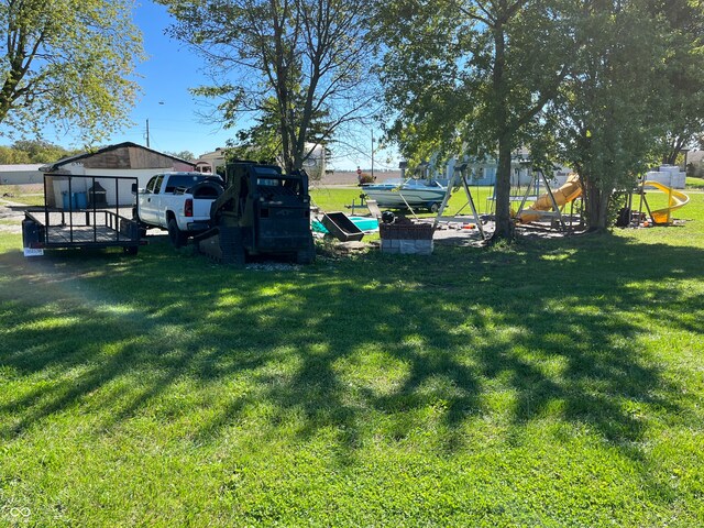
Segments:
[[[251,255],[311,263],[308,175],[255,162],[229,163],[224,193],[210,207],[210,229],[197,243],[201,253],[224,264],[242,265]]]

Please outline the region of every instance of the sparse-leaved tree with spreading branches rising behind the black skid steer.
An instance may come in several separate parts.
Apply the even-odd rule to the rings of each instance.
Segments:
[[[352,0],[160,0],[170,33],[207,59],[212,82],[195,94],[217,101],[226,127],[250,128],[287,170],[373,102],[365,79],[374,46],[369,2]],[[253,124],[252,124],[253,123]]]

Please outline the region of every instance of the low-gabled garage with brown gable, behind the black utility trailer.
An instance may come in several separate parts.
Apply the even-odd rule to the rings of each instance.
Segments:
[[[47,176],[47,205],[56,206],[62,201],[62,195],[68,191],[68,179],[62,176],[127,176],[136,178],[139,187],[146,187],[148,179],[155,174],[170,170],[196,169],[196,164],[178,157],[163,154],[136,143],[120,143],[106,146],[96,152],[87,152],[76,156],[65,157],[56,163],[44,165],[41,170]],[[72,193],[87,193],[92,185],[92,178],[74,178]],[[108,180],[98,182],[107,191],[107,202],[129,205],[132,200],[131,182],[124,180],[119,185]],[[118,200],[119,196],[119,200]]]

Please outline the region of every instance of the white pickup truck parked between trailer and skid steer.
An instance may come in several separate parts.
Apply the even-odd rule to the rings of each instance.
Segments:
[[[157,174],[146,188],[136,189],[133,213],[143,230],[166,229],[172,244],[180,248],[189,235],[208,229],[210,205],[222,191],[222,180],[210,174]]]

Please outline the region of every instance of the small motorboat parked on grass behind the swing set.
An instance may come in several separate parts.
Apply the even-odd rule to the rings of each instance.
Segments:
[[[364,184],[362,190],[380,207],[422,208],[437,212],[448,188],[435,179],[407,178]]]

